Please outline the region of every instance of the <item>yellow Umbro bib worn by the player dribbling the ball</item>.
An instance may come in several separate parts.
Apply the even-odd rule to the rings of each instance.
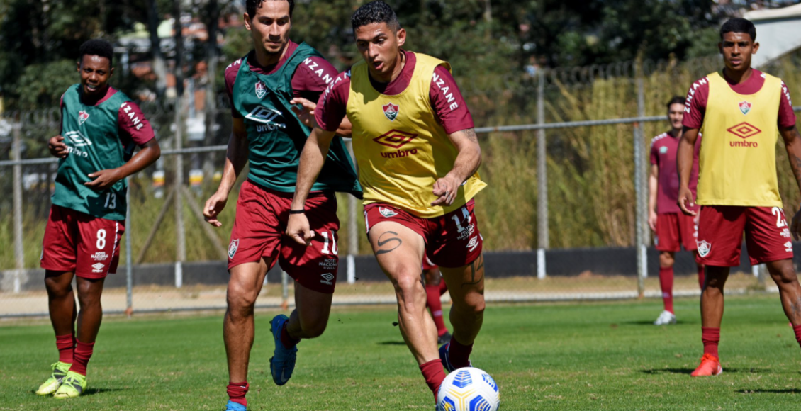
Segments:
[[[437,122],[429,91],[434,69],[447,62],[416,53],[409,86],[399,95],[382,95],[370,83],[368,66],[351,69],[348,119],[359,166],[364,204],[388,203],[415,216],[432,218],[461,208],[486,187],[478,173],[459,187],[453,205],[432,207],[433,185],[456,161],[457,148]]]

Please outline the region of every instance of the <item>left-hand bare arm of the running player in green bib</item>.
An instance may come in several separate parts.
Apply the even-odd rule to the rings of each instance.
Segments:
[[[228,149],[225,153],[223,179],[220,180],[217,191],[211,195],[203,207],[203,219],[215,227],[223,225],[217,220],[217,216],[225,208],[231,188],[234,187],[239,173],[248,163],[248,131],[245,129],[244,119],[234,118],[233,120],[233,131],[228,139]]]

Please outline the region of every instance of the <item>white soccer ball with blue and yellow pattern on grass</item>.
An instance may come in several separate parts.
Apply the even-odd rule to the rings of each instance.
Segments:
[[[497,411],[499,405],[493,377],[473,367],[449,373],[437,393],[437,411]]]

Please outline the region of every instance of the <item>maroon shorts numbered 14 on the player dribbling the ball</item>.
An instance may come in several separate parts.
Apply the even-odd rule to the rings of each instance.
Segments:
[[[425,240],[425,254],[433,265],[458,268],[476,260],[484,244],[474,207],[471,199],[464,207],[444,216],[424,219],[385,203],[372,203],[364,206],[364,224],[368,233],[372,226],[384,221],[410,228]]]

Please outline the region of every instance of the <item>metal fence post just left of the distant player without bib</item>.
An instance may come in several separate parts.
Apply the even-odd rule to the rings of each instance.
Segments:
[[[645,95],[642,83],[642,62],[637,65],[637,113],[645,116]],[[645,279],[648,276],[648,256],[646,250],[646,190],[645,190],[645,155],[642,141],[642,124],[634,123],[634,190],[636,192],[635,249],[637,250],[637,294],[645,295]]]

